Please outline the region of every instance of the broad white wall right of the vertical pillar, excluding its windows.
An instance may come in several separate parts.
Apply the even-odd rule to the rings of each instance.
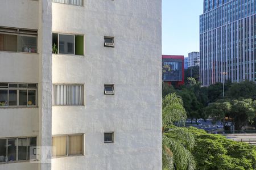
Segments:
[[[52,9],[53,32],[85,35],[85,56],[52,60],[53,83],[85,84],[85,107],[52,108],[52,134],[85,133],[85,156],[52,159],[52,169],[161,169],[161,1]],[[104,83],[114,83],[114,96]],[[104,144],[104,131],[114,131],[114,143]]]

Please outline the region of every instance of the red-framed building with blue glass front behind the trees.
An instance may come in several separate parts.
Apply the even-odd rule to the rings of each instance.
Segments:
[[[184,84],[184,56],[162,56],[162,65],[170,66],[170,71],[163,73],[163,81],[173,86]]]

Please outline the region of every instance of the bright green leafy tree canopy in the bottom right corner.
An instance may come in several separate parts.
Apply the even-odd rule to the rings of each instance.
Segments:
[[[222,135],[208,134],[204,130],[188,128],[196,139],[193,156],[197,169],[254,169],[256,148],[234,142]]]

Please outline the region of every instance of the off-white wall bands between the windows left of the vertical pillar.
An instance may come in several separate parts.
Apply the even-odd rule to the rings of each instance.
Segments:
[[[0,1],[0,25],[39,28],[39,2],[31,0]],[[39,83],[39,54],[0,52],[0,82]],[[38,136],[39,108],[0,108],[0,138]],[[35,170],[30,162],[0,164],[0,170]]]

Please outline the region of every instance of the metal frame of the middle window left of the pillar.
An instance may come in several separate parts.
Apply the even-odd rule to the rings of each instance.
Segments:
[[[38,107],[38,83],[2,83],[8,84],[8,87],[0,87],[0,90],[7,90],[7,105],[0,105],[0,108],[36,108]],[[10,87],[10,84],[17,84],[17,87]],[[25,87],[19,87],[19,84],[26,84]],[[28,88],[29,84],[35,84],[35,88]],[[16,105],[9,105],[9,91],[16,91]],[[19,105],[19,91],[27,91],[27,105]],[[35,91],[35,105],[28,105],[28,91]]]

